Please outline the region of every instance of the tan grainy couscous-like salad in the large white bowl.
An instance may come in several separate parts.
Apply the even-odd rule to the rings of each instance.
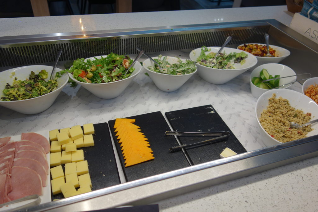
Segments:
[[[289,122],[304,124],[311,119],[311,113],[304,113],[290,106],[287,99],[275,98],[276,94],[268,99],[267,109],[260,116],[260,123],[265,131],[280,142],[305,138],[312,131],[310,125],[299,129],[291,129]]]

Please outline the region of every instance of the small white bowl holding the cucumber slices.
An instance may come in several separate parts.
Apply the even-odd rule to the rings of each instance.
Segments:
[[[289,68],[286,65],[282,65],[278,63],[268,63],[268,64],[263,64],[256,67],[250,75],[251,92],[253,97],[255,98],[259,98],[260,95],[268,91],[267,89],[259,88],[252,83],[253,77],[259,77],[259,72],[262,71],[263,68],[265,68],[269,74],[273,75],[273,77],[275,75],[280,75],[280,77],[296,75],[293,69]],[[296,76],[280,79],[279,85],[284,85],[284,86],[281,86],[280,88],[288,88],[289,86],[293,84],[289,84],[289,85],[285,85],[285,84],[294,82],[295,80],[296,80]]]

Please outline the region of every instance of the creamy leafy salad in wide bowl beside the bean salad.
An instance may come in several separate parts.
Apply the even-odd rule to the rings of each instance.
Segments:
[[[245,58],[247,58],[247,54],[243,51],[239,53],[231,52],[229,54],[220,52],[216,58],[216,52],[205,54],[207,51],[211,51],[211,49],[208,49],[206,46],[201,47],[201,54],[197,58],[197,63],[210,68],[235,69],[235,63],[244,64]]]

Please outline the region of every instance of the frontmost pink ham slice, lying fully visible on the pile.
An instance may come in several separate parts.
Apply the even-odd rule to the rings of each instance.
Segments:
[[[13,166],[11,183],[12,191],[8,194],[11,201],[34,194],[42,195],[41,177],[30,168]]]

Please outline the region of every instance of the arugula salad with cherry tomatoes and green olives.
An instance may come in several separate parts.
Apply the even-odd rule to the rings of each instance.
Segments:
[[[99,84],[107,82],[115,82],[128,78],[135,70],[133,67],[129,69],[125,76],[125,72],[129,68],[133,59],[128,55],[118,55],[110,53],[106,57],[100,59],[77,59],[73,62],[73,66],[67,70],[73,74],[73,77],[80,82]]]

